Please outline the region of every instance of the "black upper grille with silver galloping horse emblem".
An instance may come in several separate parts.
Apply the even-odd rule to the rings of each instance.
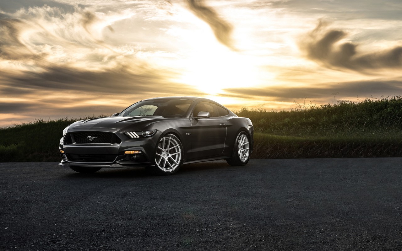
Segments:
[[[68,133],[64,142],[68,145],[113,145],[119,144],[121,140],[114,133],[84,131]]]

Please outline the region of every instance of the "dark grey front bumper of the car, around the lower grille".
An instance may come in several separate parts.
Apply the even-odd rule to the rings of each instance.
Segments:
[[[77,130],[78,131],[78,130]],[[91,128],[90,131],[112,132],[121,139],[114,145],[71,145],[60,139],[59,149],[63,150],[61,166],[75,167],[147,167],[154,165],[155,149],[161,133],[152,137],[129,139],[123,132],[113,129]],[[74,132],[74,131],[71,131]],[[124,154],[125,151],[141,151]]]

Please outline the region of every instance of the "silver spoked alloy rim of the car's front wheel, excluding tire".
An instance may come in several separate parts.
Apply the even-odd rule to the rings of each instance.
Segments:
[[[181,162],[181,149],[179,143],[172,137],[163,137],[156,148],[156,165],[164,172],[171,172]]]

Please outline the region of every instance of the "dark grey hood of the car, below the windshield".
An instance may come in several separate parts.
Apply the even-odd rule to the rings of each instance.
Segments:
[[[92,118],[88,120],[80,120],[74,122],[68,127],[68,129],[91,129],[91,128],[113,128],[113,129],[125,129],[127,127],[133,127],[138,125],[145,127],[154,122],[161,120],[170,120],[178,118],[164,118],[162,116],[135,116],[135,117],[102,117]],[[183,118],[180,118],[183,119]]]

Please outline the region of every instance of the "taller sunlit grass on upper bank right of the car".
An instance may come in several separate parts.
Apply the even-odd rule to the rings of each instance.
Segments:
[[[394,133],[402,129],[402,98],[366,99],[361,102],[305,106],[292,111],[242,108],[236,114],[250,118],[259,132],[274,135],[328,136],[331,134]]]

